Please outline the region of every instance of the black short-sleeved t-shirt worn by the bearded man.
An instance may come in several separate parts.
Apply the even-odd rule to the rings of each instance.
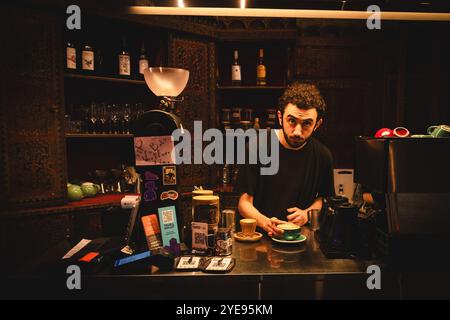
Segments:
[[[242,165],[237,189],[252,195],[253,205],[262,214],[286,220],[288,208],[306,209],[317,197],[334,195],[333,158],[314,138],[300,150],[286,149],[279,140],[278,144],[278,173],[261,175],[261,164]],[[252,152],[248,146],[247,152]]]

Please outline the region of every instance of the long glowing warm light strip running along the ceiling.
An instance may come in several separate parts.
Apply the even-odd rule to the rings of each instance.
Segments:
[[[360,19],[367,20],[373,12],[341,10],[293,10],[253,8],[173,8],[131,6],[128,13],[176,16],[223,16],[223,17],[273,17],[310,19]],[[382,20],[450,21],[450,13],[389,12],[381,11]]]

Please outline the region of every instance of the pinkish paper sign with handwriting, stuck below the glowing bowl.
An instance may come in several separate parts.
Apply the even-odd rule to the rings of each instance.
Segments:
[[[172,136],[135,137],[134,153],[136,166],[156,166],[174,164]]]

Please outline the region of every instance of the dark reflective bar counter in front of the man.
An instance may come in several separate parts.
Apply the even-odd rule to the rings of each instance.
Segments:
[[[5,298],[62,299],[377,299],[399,298],[396,275],[384,272],[383,290],[369,290],[366,272],[377,261],[327,259],[314,234],[296,246],[275,244],[264,236],[255,243],[233,243],[234,269],[225,274],[195,272],[113,272],[112,266],[83,274],[81,290],[68,290],[66,270],[7,280]],[[46,258],[62,257],[74,244],[60,243]],[[45,260],[43,258],[43,260]],[[60,259],[60,258],[59,258]],[[43,261],[42,260],[42,261]],[[41,261],[41,262],[42,262]],[[31,276],[31,274],[33,274]],[[5,288],[5,286],[3,286]]]

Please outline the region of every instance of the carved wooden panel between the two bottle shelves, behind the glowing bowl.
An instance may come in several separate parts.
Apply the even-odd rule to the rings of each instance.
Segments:
[[[170,40],[169,64],[189,70],[189,82],[182,93],[184,101],[179,109],[183,126],[192,136],[194,121],[202,121],[203,131],[211,127],[210,61],[213,60],[207,41],[181,37]],[[182,165],[178,171],[180,191],[191,191],[194,185],[206,185],[209,171],[204,164]]]

